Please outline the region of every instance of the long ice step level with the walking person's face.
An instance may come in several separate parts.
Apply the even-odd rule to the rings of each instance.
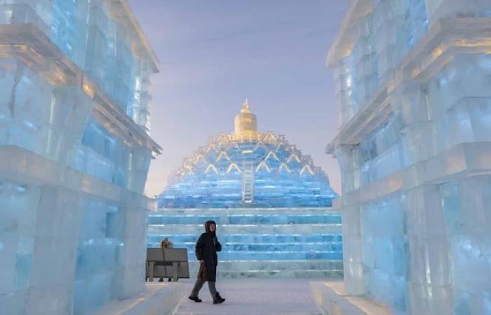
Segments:
[[[201,224],[166,224],[166,225],[149,225],[148,234],[189,234],[195,233],[201,235],[203,225]],[[220,235],[231,234],[320,234],[320,233],[339,233],[341,234],[341,224],[272,224],[272,225],[255,225],[255,224],[234,224],[220,225],[217,228]]]

